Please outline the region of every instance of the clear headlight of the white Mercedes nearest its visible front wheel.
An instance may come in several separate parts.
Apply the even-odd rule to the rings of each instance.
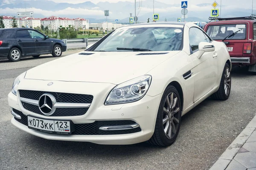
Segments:
[[[145,96],[151,83],[151,76],[144,75],[117,85],[108,94],[105,105],[129,103]]]

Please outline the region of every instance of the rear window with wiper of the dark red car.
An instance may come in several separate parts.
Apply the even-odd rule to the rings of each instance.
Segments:
[[[241,31],[239,31],[241,30]],[[223,40],[228,35],[239,31],[236,35],[227,38],[226,40],[244,40],[246,39],[246,25],[245,24],[232,24],[232,25],[218,25],[209,26],[207,28],[207,34],[213,40]]]

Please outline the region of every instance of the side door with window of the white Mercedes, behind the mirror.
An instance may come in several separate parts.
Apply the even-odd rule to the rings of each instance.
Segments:
[[[207,94],[217,81],[218,54],[213,52],[205,52],[200,59],[198,59],[198,46],[200,42],[210,42],[209,37],[199,28],[192,27],[189,29],[189,44],[192,51],[190,55],[194,68],[192,72],[195,74],[195,90],[193,102],[196,102],[202,96]]]

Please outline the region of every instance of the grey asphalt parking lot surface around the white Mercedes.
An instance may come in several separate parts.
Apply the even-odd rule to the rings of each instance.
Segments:
[[[209,98],[183,116],[179,136],[170,147],[41,139],[11,124],[7,95],[19,74],[53,59],[57,58],[46,55],[0,61],[0,169],[209,169],[256,114],[256,76],[245,67],[234,67],[230,98],[224,102]]]

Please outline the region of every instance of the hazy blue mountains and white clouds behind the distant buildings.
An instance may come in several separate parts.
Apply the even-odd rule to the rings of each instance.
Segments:
[[[146,22],[148,18],[152,21],[153,16],[153,1],[152,0],[137,0],[137,16],[139,22]],[[239,0],[226,0],[236,3]],[[228,3],[227,2],[227,3]],[[109,22],[115,22],[119,19],[119,23],[127,23],[130,13],[134,16],[134,3],[132,2],[99,2],[86,1],[84,3],[55,3],[51,0],[0,0],[0,15],[15,16],[17,11],[34,11],[34,17],[49,17],[55,15],[58,17],[84,17],[90,22],[105,22],[104,10],[110,11],[108,17]],[[160,16],[160,21],[177,21],[177,17],[181,17],[180,3],[169,5],[155,0],[155,13]],[[188,18],[186,21],[209,21],[211,3],[193,4],[188,7]],[[241,17],[250,16],[251,9],[240,7],[230,8],[230,6],[222,5],[221,17]]]

